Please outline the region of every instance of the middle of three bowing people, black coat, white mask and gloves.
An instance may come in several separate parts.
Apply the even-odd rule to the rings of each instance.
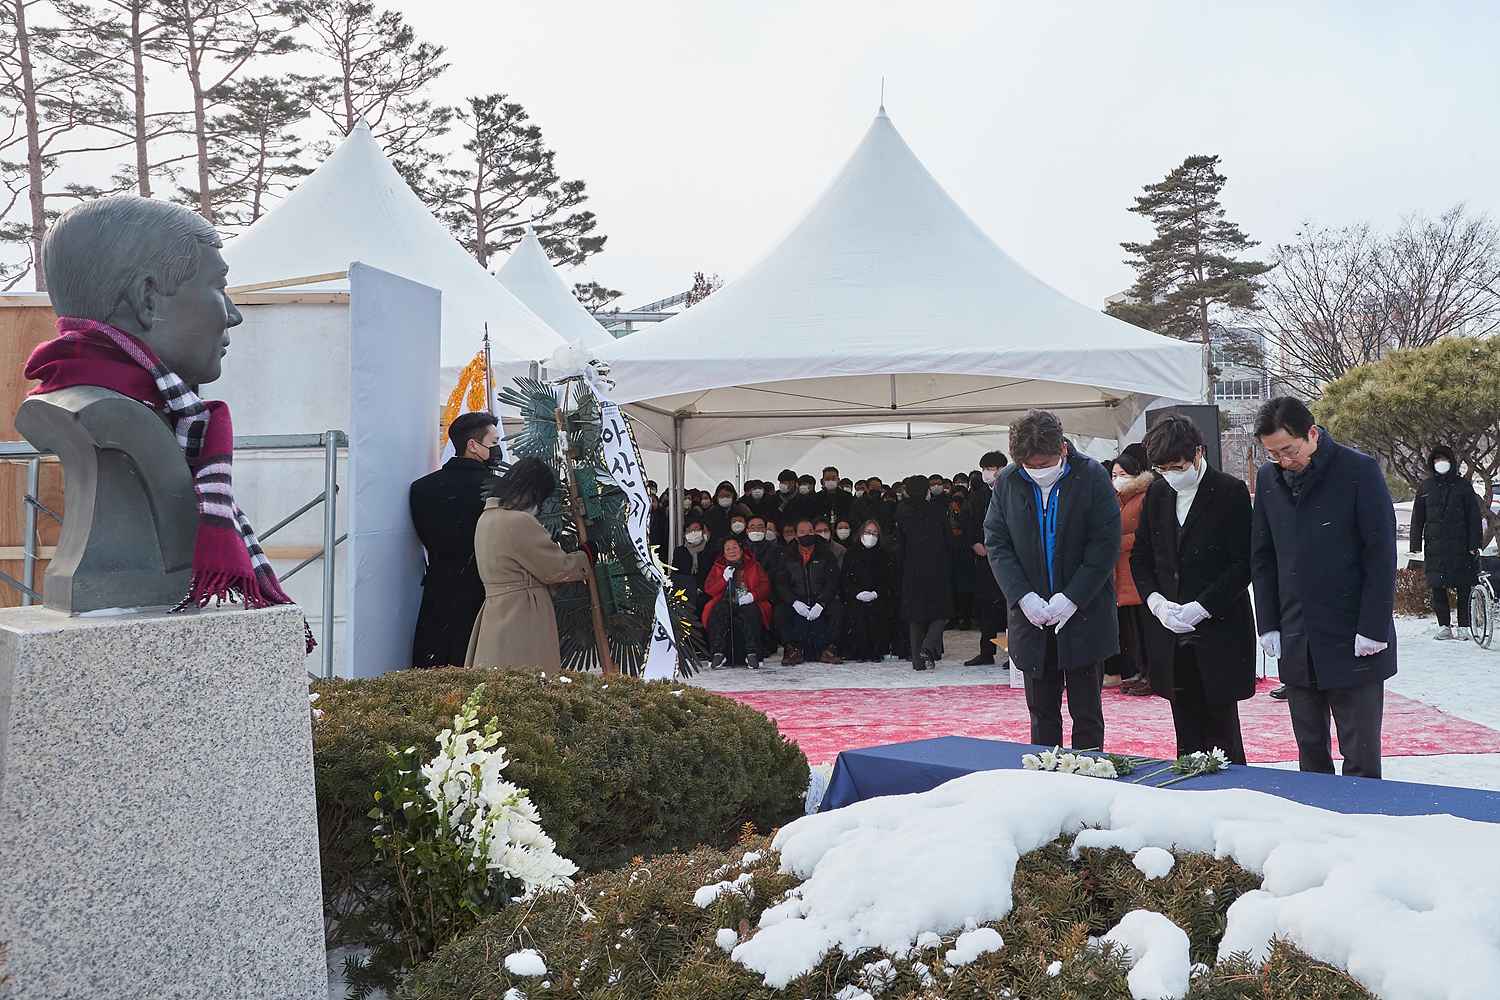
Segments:
[[[1239,706],[1256,694],[1250,610],[1250,490],[1210,468],[1185,417],[1146,435],[1160,478],[1146,489],[1130,571],[1152,618],[1146,666],[1172,702],[1178,756],[1218,747],[1245,763]]]

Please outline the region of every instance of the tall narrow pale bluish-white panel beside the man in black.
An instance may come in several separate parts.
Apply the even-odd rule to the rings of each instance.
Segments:
[[[424,561],[406,492],[438,454],[442,297],[350,267],[350,664],[352,676],[411,666]]]

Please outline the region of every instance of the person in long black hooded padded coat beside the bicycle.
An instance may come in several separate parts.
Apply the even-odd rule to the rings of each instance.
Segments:
[[[1468,477],[1458,474],[1458,456],[1446,444],[1426,456],[1432,472],[1412,504],[1412,552],[1424,553],[1426,585],[1437,612],[1434,639],[1468,639],[1468,588],[1476,580],[1476,559],[1484,540],[1479,496]],[[1449,618],[1448,591],[1458,591],[1458,631]]]

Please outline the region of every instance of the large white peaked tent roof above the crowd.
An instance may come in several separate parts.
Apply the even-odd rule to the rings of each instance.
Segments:
[[[753,349],[753,361],[747,352]],[[616,399],[686,451],[854,423],[1005,424],[1032,406],[1113,438],[1202,399],[1198,348],[1082,306],[994,244],[885,109],[792,232],[705,301],[606,349]]]

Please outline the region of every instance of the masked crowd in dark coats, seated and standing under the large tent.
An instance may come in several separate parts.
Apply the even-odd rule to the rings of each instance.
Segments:
[[[711,666],[909,660],[936,667],[946,630],[981,631],[968,666],[994,663],[1005,601],[984,555],[988,483],[978,471],[849,480],[783,469],[742,490],[682,493],[682,541],[668,552],[668,498],[648,484],[651,543],[699,612]],[[666,556],[670,555],[670,559]]]

